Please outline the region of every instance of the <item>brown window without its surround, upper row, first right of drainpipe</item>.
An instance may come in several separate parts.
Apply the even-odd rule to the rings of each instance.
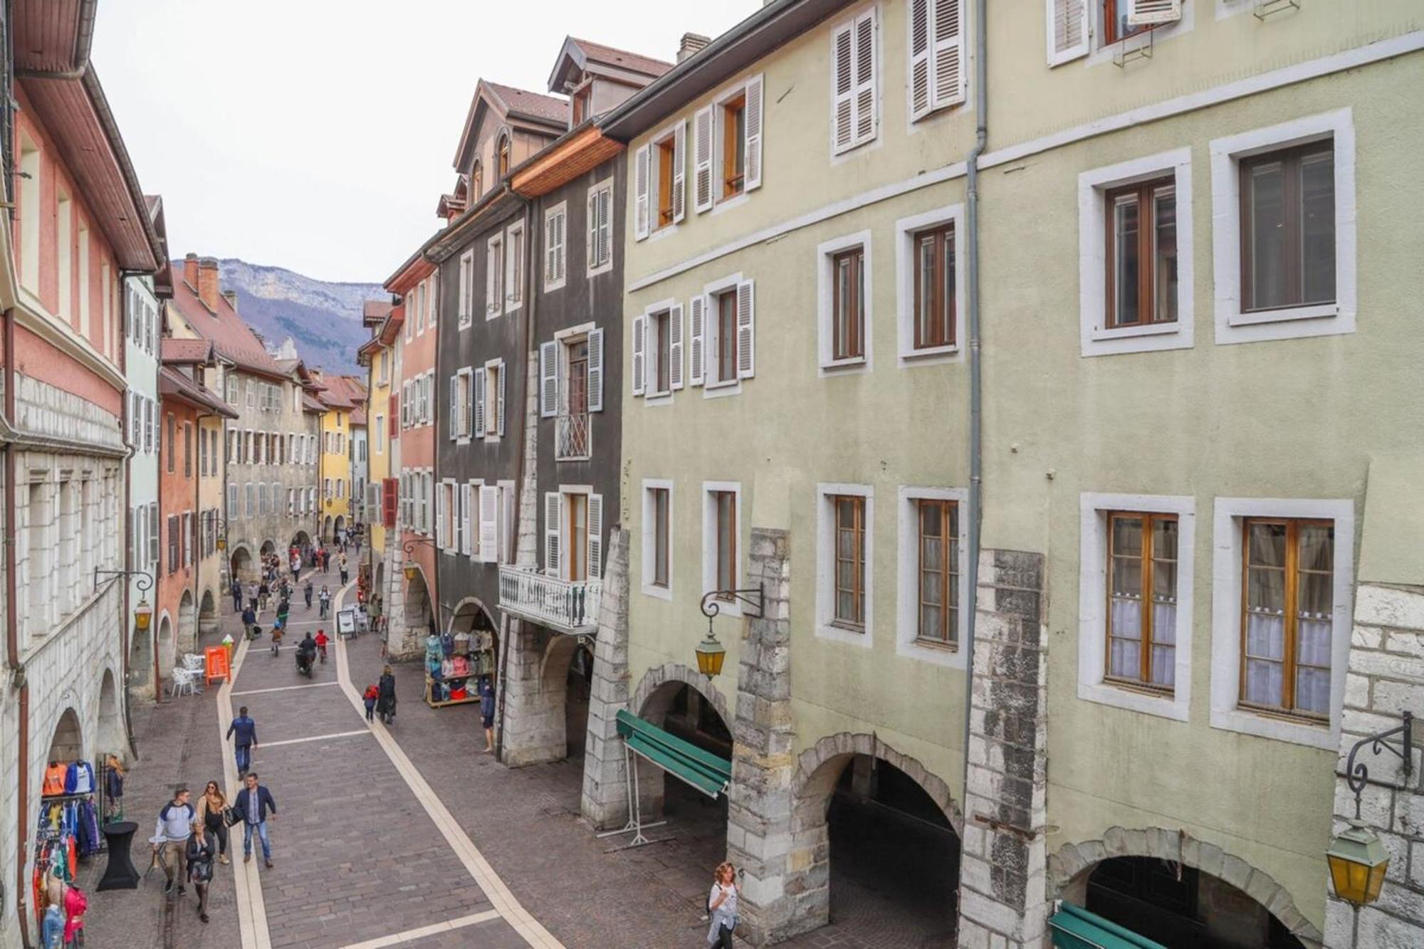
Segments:
[[[1176,188],[1158,178],[1106,192],[1108,329],[1175,323]]]

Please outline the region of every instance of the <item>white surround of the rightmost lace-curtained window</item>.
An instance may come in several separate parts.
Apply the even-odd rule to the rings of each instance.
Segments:
[[[1313,517],[1334,522],[1334,618],[1330,643],[1330,727],[1240,708],[1242,519]],[[1218,497],[1212,524],[1212,728],[1334,752],[1350,663],[1354,577],[1354,502]]]

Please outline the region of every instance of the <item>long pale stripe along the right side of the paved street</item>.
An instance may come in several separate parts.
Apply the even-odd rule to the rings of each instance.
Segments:
[[[346,594],[350,591],[350,586],[345,587],[337,596],[337,608]],[[352,707],[357,714],[366,714],[366,705],[362,702],[360,693],[352,685],[350,678],[350,660],[346,655],[346,640],[336,640],[336,678],[342,684],[342,691],[346,693],[346,698],[350,700]],[[396,771],[406,781],[406,785],[414,792],[416,801],[426,809],[430,819],[434,821],[436,828],[450,844],[450,849],[454,851],[460,862],[464,864],[464,869],[474,878],[476,885],[484,893],[486,899],[504,921],[508,922],[517,933],[524,938],[524,942],[540,949],[564,949],[564,943],[553,936],[544,926],[534,919],[534,916],[520,905],[520,901],[514,898],[510,888],[504,885],[494,868],[490,866],[484,855],[480,854],[480,848],[474,845],[470,835],[464,832],[460,822],[456,821],[454,815],[450,814],[444,802],[436,795],[434,789],[426,782],[416,765],[406,757],[404,750],[390,737],[390,731],[380,721],[372,722],[372,734],[376,735],[376,741],[384,750],[386,757],[390,762],[396,765]]]

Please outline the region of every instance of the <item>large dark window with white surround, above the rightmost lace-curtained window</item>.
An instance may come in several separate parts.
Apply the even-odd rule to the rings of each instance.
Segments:
[[[1210,152],[1216,342],[1354,332],[1350,110],[1215,140]]]

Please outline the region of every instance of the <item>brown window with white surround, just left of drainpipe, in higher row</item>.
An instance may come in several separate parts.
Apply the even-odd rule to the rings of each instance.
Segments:
[[[900,363],[927,356],[963,358],[960,261],[956,237],[963,205],[896,221]]]

